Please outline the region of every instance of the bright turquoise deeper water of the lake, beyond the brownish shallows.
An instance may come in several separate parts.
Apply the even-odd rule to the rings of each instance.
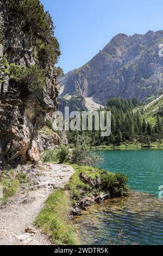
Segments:
[[[105,150],[101,153],[102,168],[126,174],[133,190],[159,196],[159,186],[163,185],[163,150]]]

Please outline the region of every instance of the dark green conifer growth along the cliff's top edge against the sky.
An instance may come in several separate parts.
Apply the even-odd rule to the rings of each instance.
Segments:
[[[30,31],[30,28],[45,43],[46,58],[53,64],[58,62],[60,56],[60,47],[57,38],[54,36],[55,26],[52,17],[48,11],[43,9],[40,0],[9,0],[9,10],[12,13],[22,15],[26,19],[24,29]]]

